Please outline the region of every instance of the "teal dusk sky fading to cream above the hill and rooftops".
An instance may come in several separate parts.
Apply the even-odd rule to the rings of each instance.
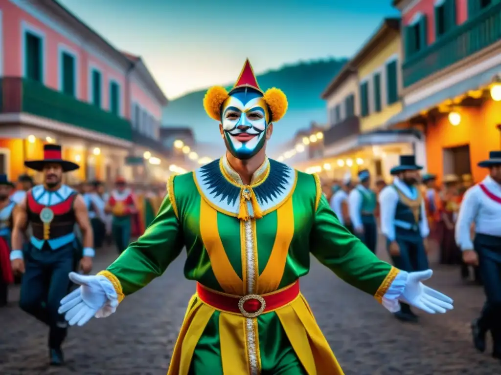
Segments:
[[[351,56],[391,0],[58,0],[117,48],[141,55],[173,99],[298,60]]]

